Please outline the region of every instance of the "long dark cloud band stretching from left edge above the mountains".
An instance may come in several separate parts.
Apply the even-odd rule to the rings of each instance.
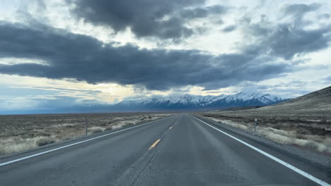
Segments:
[[[33,58],[47,63],[0,65],[0,73],[4,74],[116,82],[147,89],[186,85],[215,89],[243,80],[264,80],[291,69],[289,64],[266,63],[272,58],[260,58],[258,48],[211,56],[194,50],[147,50],[129,44],[115,47],[47,26],[31,29],[0,23],[0,33],[0,57]]]

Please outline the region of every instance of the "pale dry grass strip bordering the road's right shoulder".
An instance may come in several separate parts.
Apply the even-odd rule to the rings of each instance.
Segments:
[[[209,117],[209,119],[215,120],[219,123],[230,125],[234,128],[240,128],[241,130],[247,130],[248,132],[254,131],[253,125],[245,123],[235,122],[232,120],[224,120],[219,118]],[[302,130],[282,130],[272,127],[257,126],[257,135],[268,138],[274,142],[280,144],[298,145],[301,147],[307,147],[316,151],[331,153],[331,137],[329,135],[309,135]]]

